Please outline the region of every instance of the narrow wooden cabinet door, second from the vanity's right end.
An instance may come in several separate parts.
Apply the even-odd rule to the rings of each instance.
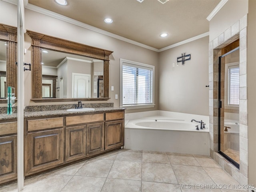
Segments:
[[[104,123],[87,125],[87,154],[98,154],[104,150]]]

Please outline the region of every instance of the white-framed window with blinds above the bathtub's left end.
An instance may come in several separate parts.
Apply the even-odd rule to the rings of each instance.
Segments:
[[[121,106],[144,108],[154,105],[154,66],[120,59]]]

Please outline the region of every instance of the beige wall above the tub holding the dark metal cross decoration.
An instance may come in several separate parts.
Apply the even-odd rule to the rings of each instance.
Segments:
[[[208,44],[207,36],[160,52],[159,110],[209,115]],[[191,60],[173,67],[184,52]]]

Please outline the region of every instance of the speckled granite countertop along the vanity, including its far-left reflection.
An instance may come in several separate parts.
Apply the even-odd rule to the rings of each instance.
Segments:
[[[24,112],[24,118],[28,117],[43,117],[43,116],[57,116],[57,115],[69,115],[69,114],[86,114],[86,113],[93,113],[93,112],[107,112],[107,111],[120,111],[124,110],[124,108],[120,107],[98,107],[95,108],[94,111],[88,112],[68,112],[67,110],[46,110],[46,111],[30,111]],[[11,115],[7,114],[0,114],[0,119],[15,119],[17,118],[17,113],[12,113]]]

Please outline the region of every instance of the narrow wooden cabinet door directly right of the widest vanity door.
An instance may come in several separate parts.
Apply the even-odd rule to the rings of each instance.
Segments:
[[[86,156],[86,125],[66,128],[65,161]]]

